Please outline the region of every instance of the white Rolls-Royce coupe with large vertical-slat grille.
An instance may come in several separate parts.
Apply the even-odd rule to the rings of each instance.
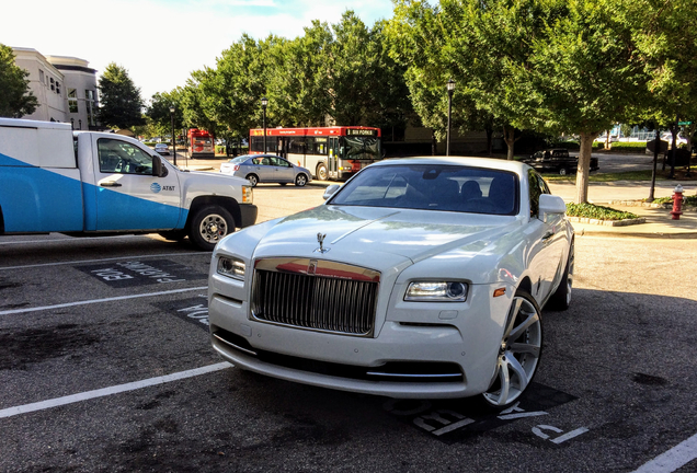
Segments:
[[[372,164],[327,201],[224,239],[214,349],[259,373],[392,397],[514,404],[542,346],[542,307],[573,281],[565,205],[527,164]]]

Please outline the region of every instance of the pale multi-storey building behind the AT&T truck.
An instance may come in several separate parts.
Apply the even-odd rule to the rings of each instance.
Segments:
[[[14,62],[28,71],[38,107],[22,118],[71,123],[75,129],[99,129],[96,70],[84,59],[44,56],[32,48],[12,48]]]

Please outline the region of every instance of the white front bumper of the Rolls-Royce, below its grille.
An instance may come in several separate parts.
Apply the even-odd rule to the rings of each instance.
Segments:
[[[493,285],[472,286],[468,302],[455,311],[401,301],[395,287],[380,291],[390,301],[387,313],[376,316],[375,335],[357,337],[254,320],[248,302],[236,298],[242,287],[227,291],[238,281],[226,279],[212,275],[208,301],[212,344],[222,358],[288,381],[399,399],[484,392],[510,305],[507,295],[492,298]],[[443,319],[444,312],[454,318]]]

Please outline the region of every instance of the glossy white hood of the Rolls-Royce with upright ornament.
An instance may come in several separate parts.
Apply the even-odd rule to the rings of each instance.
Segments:
[[[268,223],[255,258],[312,257],[373,268],[416,263],[462,246],[481,250],[521,226],[515,217],[348,206],[319,206]],[[318,234],[325,235],[324,253]]]

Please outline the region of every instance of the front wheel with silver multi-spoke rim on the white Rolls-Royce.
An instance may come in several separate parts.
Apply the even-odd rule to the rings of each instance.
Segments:
[[[529,387],[542,351],[541,311],[533,296],[516,291],[504,326],[496,369],[481,400],[501,411],[518,401]]]

